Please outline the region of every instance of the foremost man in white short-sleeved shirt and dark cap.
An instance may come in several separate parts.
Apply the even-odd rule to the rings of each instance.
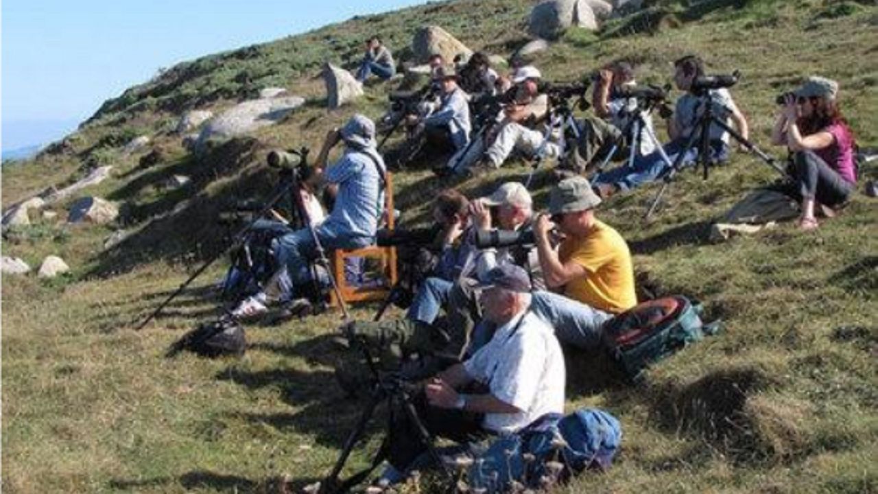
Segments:
[[[471,359],[428,381],[415,403],[428,432],[457,442],[514,433],[543,415],[564,412],[564,356],[551,327],[530,311],[528,273],[501,265],[481,287],[482,310],[497,331]],[[481,392],[463,392],[473,388]],[[393,417],[384,478],[399,482],[427,445],[405,413]]]

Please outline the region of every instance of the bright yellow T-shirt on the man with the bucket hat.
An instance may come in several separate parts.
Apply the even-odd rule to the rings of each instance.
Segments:
[[[567,282],[567,297],[614,314],[637,305],[628,244],[607,224],[595,220],[585,240],[566,239],[558,248],[558,258],[562,264],[581,265],[587,273]]]

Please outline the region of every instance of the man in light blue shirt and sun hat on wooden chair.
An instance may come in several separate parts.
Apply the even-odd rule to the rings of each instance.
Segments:
[[[329,151],[339,142],[345,149],[342,157],[326,167]],[[281,236],[274,242],[274,257],[280,266],[268,284],[272,298],[291,302],[296,287],[312,280],[309,265],[318,256],[317,243],[327,252],[334,249],[358,249],[375,242],[378,218],[384,205],[385,163],[378,154],[375,124],[356,114],[341,129],[327,133],[320,154],[307,178],[309,184],[320,179],[337,187],[335,204],[324,222]],[[259,316],[268,311],[266,290],[248,297],[232,312],[238,318]]]

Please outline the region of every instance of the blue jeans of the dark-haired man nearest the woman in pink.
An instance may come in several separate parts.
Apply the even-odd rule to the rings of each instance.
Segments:
[[[676,139],[668,142],[663,149],[671,163],[674,163],[683,146],[686,145],[685,139]],[[683,161],[680,166],[691,166],[698,160],[697,145],[686,150],[683,155]],[[729,160],[729,146],[722,141],[710,142],[710,161],[712,163],[723,163]],[[646,156],[637,156],[634,158],[632,166],[623,165],[614,170],[606,171],[592,178],[592,185],[616,185],[620,190],[628,191],[655,181],[670,171],[670,167],[662,159],[659,151],[653,151]]]

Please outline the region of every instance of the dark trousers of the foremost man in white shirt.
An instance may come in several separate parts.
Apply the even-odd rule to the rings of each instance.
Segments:
[[[433,438],[442,437],[463,444],[490,435],[482,428],[485,418],[482,414],[430,406],[423,393],[415,396],[413,403],[421,424]],[[387,441],[387,461],[394,469],[407,472],[415,462],[419,468],[423,465],[422,456],[427,453],[428,445],[421,440],[417,425],[403,410],[401,403],[393,403]]]

